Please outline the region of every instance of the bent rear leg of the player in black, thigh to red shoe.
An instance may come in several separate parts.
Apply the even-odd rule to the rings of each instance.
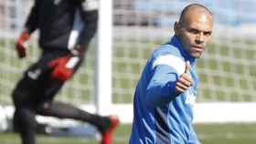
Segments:
[[[76,72],[80,67],[81,61],[74,67]],[[57,80],[46,76],[44,79],[48,79],[45,87],[45,93],[43,100],[39,107],[37,107],[37,113],[44,116],[51,116],[57,118],[73,118],[81,121],[89,122],[94,125],[102,134],[102,140],[108,142],[102,142],[103,144],[111,143],[112,130],[117,126],[118,119],[115,117],[101,117],[99,115],[91,114],[87,111],[76,108],[67,103],[54,102],[53,98],[59,92],[59,89],[63,86],[65,81]],[[105,140],[104,140],[105,139]]]

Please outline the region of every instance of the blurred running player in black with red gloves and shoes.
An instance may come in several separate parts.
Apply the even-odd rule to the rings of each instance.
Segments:
[[[23,144],[36,143],[37,114],[89,122],[101,132],[101,144],[112,143],[117,118],[93,115],[53,101],[84,59],[97,29],[97,6],[97,0],[35,0],[16,42],[18,57],[27,57],[25,43],[39,30],[42,54],[28,67],[12,94],[16,107],[14,126]]]

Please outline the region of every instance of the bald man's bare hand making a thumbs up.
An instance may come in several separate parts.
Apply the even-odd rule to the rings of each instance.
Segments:
[[[176,92],[183,93],[192,85],[192,78],[190,76],[190,63],[187,61],[185,72],[176,81]]]

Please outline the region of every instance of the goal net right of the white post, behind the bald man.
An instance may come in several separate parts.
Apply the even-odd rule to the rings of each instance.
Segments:
[[[113,103],[133,101],[147,58],[155,46],[170,39],[178,15],[191,3],[206,5],[215,22],[211,44],[197,60],[200,82],[195,121],[255,121],[251,115],[256,108],[256,7],[252,0],[114,0]]]

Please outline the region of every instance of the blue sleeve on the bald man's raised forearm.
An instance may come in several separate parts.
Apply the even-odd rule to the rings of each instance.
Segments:
[[[155,107],[169,103],[176,93],[176,70],[166,65],[155,67],[155,73],[146,88],[146,103]]]

